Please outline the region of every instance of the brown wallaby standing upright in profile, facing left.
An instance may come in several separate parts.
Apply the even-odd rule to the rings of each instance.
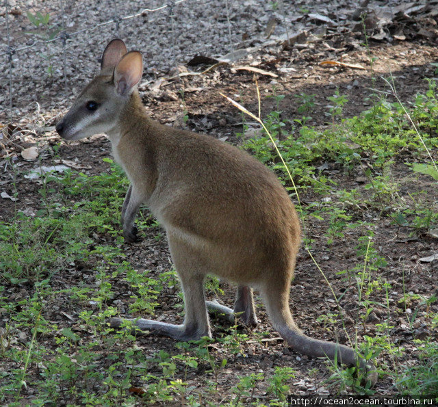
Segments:
[[[184,294],[184,322],[133,319],[138,328],[179,341],[211,337],[207,307],[257,324],[254,287],[287,345],[302,354],[359,366],[374,384],[374,365],[350,347],[307,337],[292,319],[289,290],[300,223],[274,172],[214,137],[151,120],[136,89],[142,70],[140,52],[127,52],[122,40],[112,40],[99,75],[56,125],[66,140],[96,133],[110,137],[114,158],[131,182],[121,216],[127,241],[137,239],[134,218],[142,204],[166,229]],[[207,274],[237,283],[234,309],[205,301]],[[114,318],[111,326],[122,321]]]

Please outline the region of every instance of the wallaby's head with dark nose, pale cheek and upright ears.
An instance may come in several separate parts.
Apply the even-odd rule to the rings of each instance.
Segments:
[[[122,40],[112,40],[103,51],[101,72],[77,96],[56,124],[56,131],[66,140],[79,140],[117,129],[120,113],[142,72],[142,55],[138,51],[127,52]]]

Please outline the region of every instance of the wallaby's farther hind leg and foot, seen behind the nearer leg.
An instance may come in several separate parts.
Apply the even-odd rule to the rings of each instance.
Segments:
[[[248,286],[240,285],[237,287],[237,298],[234,303],[234,309],[219,304],[216,301],[206,301],[205,304],[207,304],[207,308],[210,312],[218,314],[231,323],[233,323],[235,317],[237,317],[245,325],[257,325],[253,289]]]

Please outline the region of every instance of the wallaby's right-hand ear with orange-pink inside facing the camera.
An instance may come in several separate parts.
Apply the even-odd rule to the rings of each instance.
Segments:
[[[114,68],[114,85],[118,94],[128,94],[140,82],[143,74],[142,54],[129,51]]]

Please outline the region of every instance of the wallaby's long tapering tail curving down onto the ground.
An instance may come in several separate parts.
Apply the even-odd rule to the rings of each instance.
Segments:
[[[272,325],[292,349],[314,358],[328,357],[331,360],[337,360],[338,363],[359,366],[361,370],[365,371],[366,379],[370,380],[372,386],[376,384],[378,377],[376,367],[371,362],[359,357],[351,347],[313,339],[301,332],[294,323],[289,309],[289,289],[283,290],[281,294],[273,291],[263,293],[263,297]]]

